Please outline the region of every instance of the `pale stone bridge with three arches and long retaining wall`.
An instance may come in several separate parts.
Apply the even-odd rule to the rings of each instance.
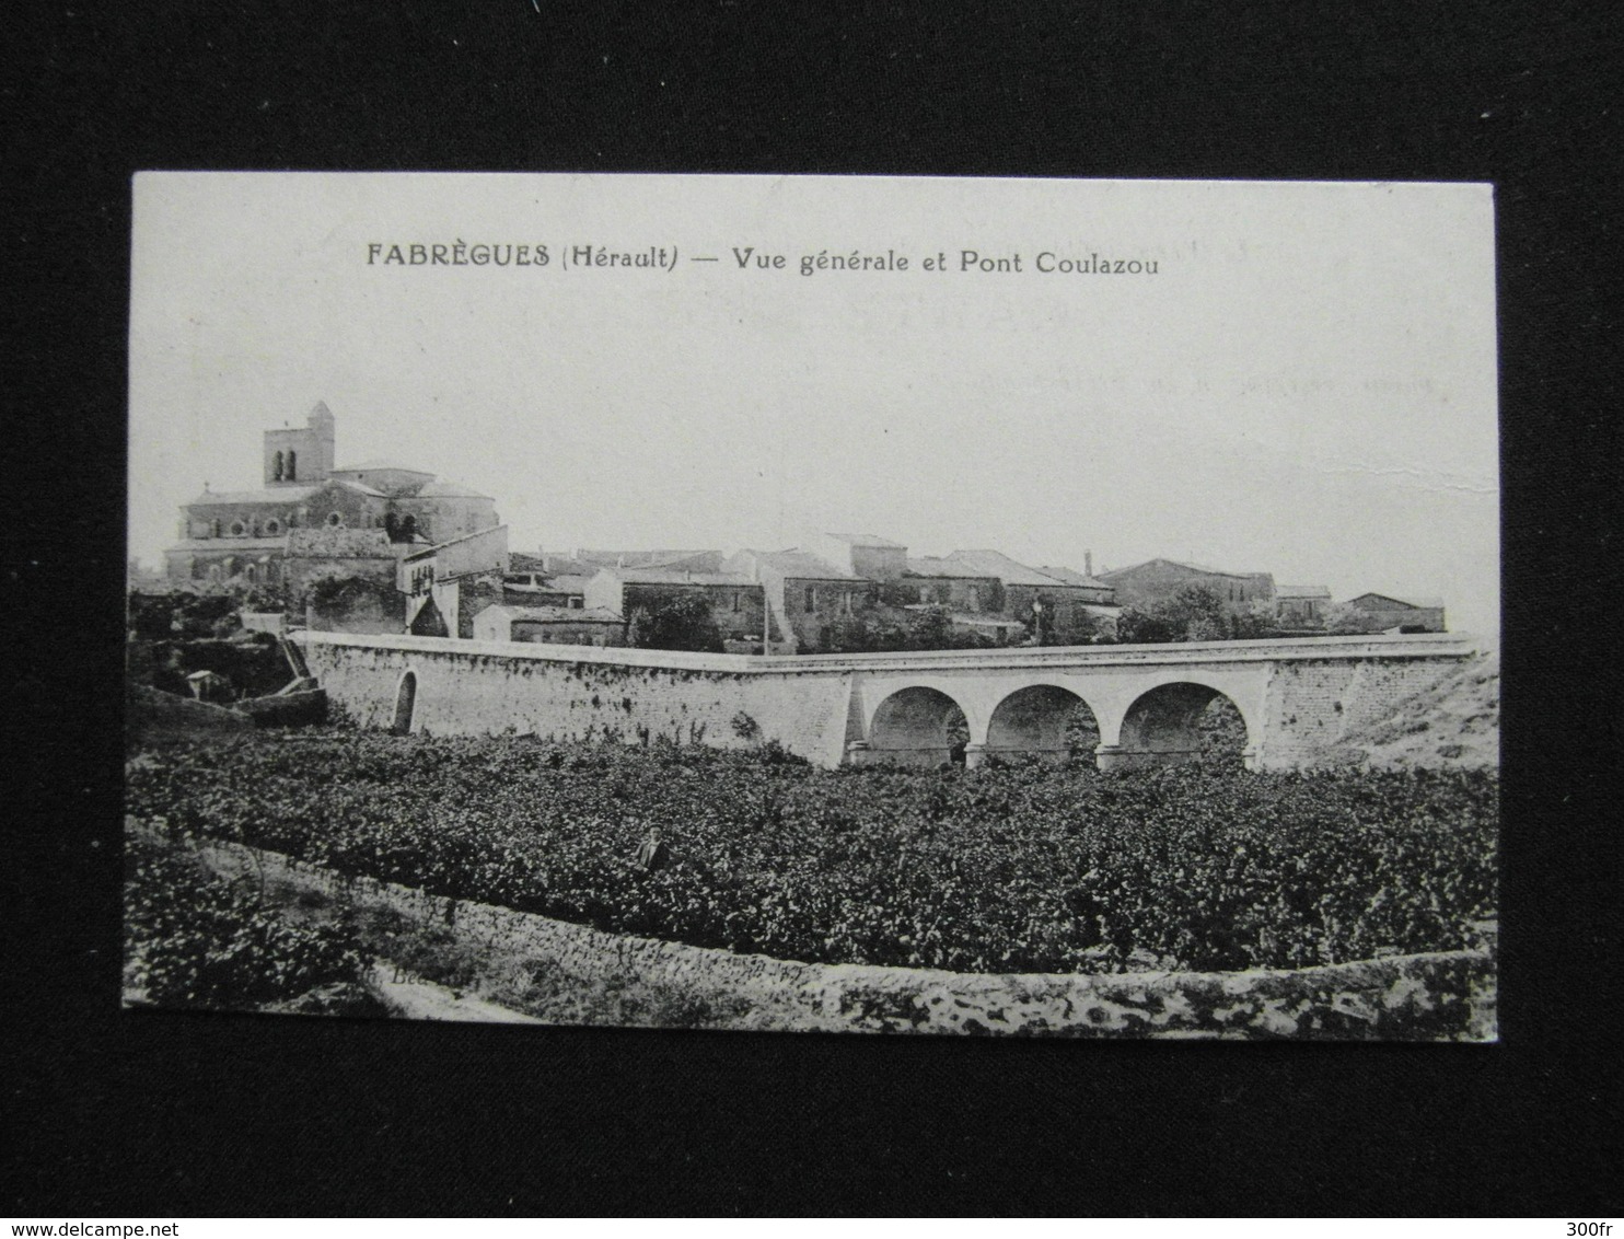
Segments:
[[[1103,770],[1184,762],[1199,755],[1202,714],[1220,698],[1244,723],[1247,766],[1294,766],[1475,654],[1453,633],[773,658],[296,640],[328,698],[364,726],[719,747],[776,739],[825,766],[1059,760],[1083,708]]]

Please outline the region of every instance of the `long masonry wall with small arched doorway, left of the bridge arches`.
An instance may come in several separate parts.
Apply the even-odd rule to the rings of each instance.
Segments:
[[[401,674],[417,676],[414,731],[469,736],[503,731],[575,740],[641,742],[663,736],[677,744],[745,747],[734,732],[744,713],[760,739],[778,740],[801,757],[836,765],[846,742],[849,676],[812,672],[724,672],[661,661],[573,661],[469,650],[325,645],[305,650],[310,674],[365,727],[388,727]]]

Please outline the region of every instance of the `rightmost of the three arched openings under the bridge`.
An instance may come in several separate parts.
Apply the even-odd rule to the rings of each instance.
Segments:
[[[1259,729],[1223,689],[1197,677],[1147,689],[1122,713],[1119,744],[1103,745],[1099,768],[1177,765],[1231,758],[1250,765]]]

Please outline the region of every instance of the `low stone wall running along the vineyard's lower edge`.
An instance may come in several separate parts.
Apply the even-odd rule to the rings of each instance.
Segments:
[[[1294,971],[966,974],[815,965],[734,955],[464,903],[305,866],[237,844],[211,864],[393,908],[513,968],[581,982],[680,989],[718,1010],[715,1026],[849,1033],[1078,1038],[1492,1041],[1494,960],[1444,952]]]

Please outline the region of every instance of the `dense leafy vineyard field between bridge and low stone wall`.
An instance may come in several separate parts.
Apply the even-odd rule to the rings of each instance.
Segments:
[[[781,753],[245,734],[128,812],[598,929],[965,973],[1301,968],[1476,947],[1492,771],[817,770]],[[645,872],[658,827],[669,861]]]

